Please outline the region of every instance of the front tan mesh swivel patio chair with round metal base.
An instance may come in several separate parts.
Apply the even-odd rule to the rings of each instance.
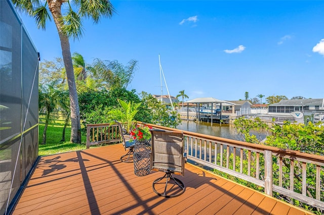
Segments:
[[[166,198],[179,196],[185,191],[184,183],[173,174],[184,176],[187,153],[184,149],[183,133],[151,130],[150,168],[165,172],[153,181],[153,191]]]

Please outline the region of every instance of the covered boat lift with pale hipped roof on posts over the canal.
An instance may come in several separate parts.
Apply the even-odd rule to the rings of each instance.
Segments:
[[[203,97],[203,98],[194,98],[191,99],[189,101],[185,101],[183,103],[187,103],[187,120],[189,120],[189,103],[195,103],[197,106],[197,119],[200,121],[200,104],[212,104],[212,109],[211,109],[211,125],[213,125],[213,104],[215,103],[215,108],[216,105],[219,104],[220,105],[220,120],[222,119],[222,103],[226,103],[226,104],[231,104],[234,105],[234,103],[229,102],[229,101],[225,101],[225,100],[220,100],[217,98],[213,98],[213,97]]]

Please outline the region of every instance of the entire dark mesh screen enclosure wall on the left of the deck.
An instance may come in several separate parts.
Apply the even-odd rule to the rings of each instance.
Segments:
[[[37,156],[38,54],[11,1],[1,0],[0,214],[6,212]]]

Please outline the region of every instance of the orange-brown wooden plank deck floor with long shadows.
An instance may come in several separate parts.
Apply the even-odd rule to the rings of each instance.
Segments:
[[[275,198],[186,164],[175,198],[157,196],[164,173],[134,175],[121,163],[121,144],[41,158],[13,214],[310,214]]]

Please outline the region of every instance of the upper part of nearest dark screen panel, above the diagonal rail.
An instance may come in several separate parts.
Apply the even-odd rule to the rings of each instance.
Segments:
[[[21,23],[7,1],[0,1],[0,136],[21,132]]]

